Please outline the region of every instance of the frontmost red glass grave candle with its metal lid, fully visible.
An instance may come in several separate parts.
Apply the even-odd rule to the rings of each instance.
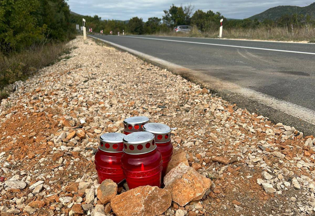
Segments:
[[[129,189],[145,185],[161,187],[162,164],[152,133],[135,132],[124,137],[121,165]]]

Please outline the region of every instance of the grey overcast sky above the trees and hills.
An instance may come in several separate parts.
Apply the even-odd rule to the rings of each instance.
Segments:
[[[82,15],[98,15],[102,19],[127,20],[138,16],[147,21],[149,17],[162,18],[163,10],[169,9],[174,3],[176,6],[192,4],[195,10],[219,11],[226,18],[243,19],[259,14],[268,8],[279,5],[307,6],[314,0],[225,0],[225,1],[185,1],[185,0],[69,0],[70,10]]]

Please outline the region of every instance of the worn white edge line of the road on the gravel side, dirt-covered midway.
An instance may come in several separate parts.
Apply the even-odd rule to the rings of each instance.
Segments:
[[[100,41],[106,42],[106,43],[108,43],[114,47],[118,47],[120,49],[126,50],[127,52],[133,53],[137,56],[142,56],[143,58],[146,58],[152,62],[156,62],[156,63],[161,64],[161,65],[164,65],[166,67],[170,67],[170,68],[174,68],[174,69],[176,69],[176,68],[188,69],[188,68],[182,67],[178,64],[174,64],[174,63],[165,61],[161,58],[156,58],[156,57],[153,57],[151,55],[141,53],[141,52],[136,51],[134,49],[130,49],[128,47],[124,47],[124,46],[121,46],[119,44],[109,42],[109,41],[106,41],[104,39],[100,39],[100,38],[95,37],[95,36],[89,36],[89,37],[92,37],[92,38],[98,39]],[[189,69],[189,70],[191,70],[191,69]],[[208,76],[212,77],[211,75],[208,75]],[[214,79],[220,80],[220,79],[215,78],[215,77],[214,77]],[[223,83],[228,83],[228,82],[223,81],[223,80],[220,80],[220,81]],[[236,85],[236,84],[233,84],[233,85]],[[232,88],[232,89],[227,89],[227,90],[234,92],[234,93],[237,93],[237,94],[240,94],[244,97],[255,100],[255,101],[257,101],[261,104],[264,104],[268,107],[274,108],[274,109],[279,110],[283,113],[294,116],[295,118],[302,119],[308,123],[315,125],[315,111],[314,110],[302,107],[300,105],[296,105],[296,104],[288,102],[288,101],[277,99],[277,98],[272,97],[270,95],[267,95],[267,94],[249,89],[249,88],[244,88],[241,86],[238,86],[238,88]]]

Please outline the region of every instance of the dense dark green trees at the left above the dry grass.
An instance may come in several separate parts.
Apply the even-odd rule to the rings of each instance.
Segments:
[[[67,40],[73,29],[66,0],[1,0],[0,51]]]

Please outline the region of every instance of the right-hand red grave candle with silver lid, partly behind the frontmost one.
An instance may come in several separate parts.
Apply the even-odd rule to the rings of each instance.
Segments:
[[[171,143],[171,129],[169,126],[161,123],[147,123],[143,126],[143,131],[150,132],[155,137],[155,143],[157,149],[162,154],[163,160],[163,170],[162,170],[162,180],[165,176],[167,165],[172,158],[173,145]]]

